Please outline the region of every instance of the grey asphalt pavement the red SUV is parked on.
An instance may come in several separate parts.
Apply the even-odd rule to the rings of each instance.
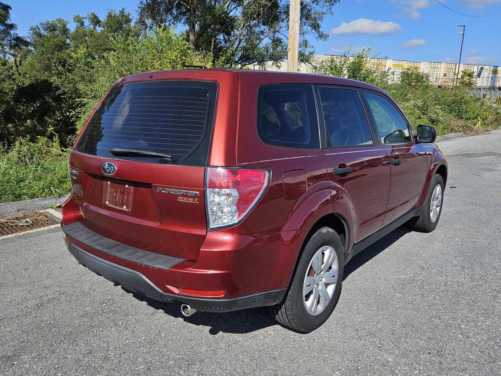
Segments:
[[[59,229],[0,239],[0,374],[501,374],[501,131],[440,148],[436,230],[354,257],[309,334],[266,308],[184,318],[78,265]]]

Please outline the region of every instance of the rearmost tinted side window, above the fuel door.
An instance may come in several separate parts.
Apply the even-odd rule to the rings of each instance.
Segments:
[[[261,87],[258,114],[258,133],[263,142],[294,148],[320,147],[311,85]]]

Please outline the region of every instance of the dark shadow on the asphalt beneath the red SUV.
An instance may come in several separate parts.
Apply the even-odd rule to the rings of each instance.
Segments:
[[[345,266],[343,280],[410,231],[407,226],[401,226],[354,256]],[[268,307],[241,309],[224,313],[196,312],[189,317],[184,317],[181,314],[181,303],[165,303],[123,287],[122,290],[132,294],[136,299],[145,302],[150,307],[163,311],[169,316],[182,318],[193,325],[207,326],[209,327],[209,333],[213,335],[219,332],[234,334],[250,333],[278,325],[277,321],[268,312]]]

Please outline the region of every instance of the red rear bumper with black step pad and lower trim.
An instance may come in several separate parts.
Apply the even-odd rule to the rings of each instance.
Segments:
[[[161,301],[184,302],[202,311],[230,311],[280,302],[309,231],[261,237],[249,234],[242,225],[210,231],[196,252],[198,258],[186,260],[109,239],[106,231],[91,231],[92,223],[88,227],[87,222],[70,198],[63,206],[61,226],[67,248],[82,264],[130,290]],[[179,289],[207,293],[188,294]],[[211,296],[214,290],[223,292]]]

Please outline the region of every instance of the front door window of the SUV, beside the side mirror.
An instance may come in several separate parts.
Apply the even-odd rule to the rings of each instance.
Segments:
[[[385,97],[372,93],[364,93],[369,103],[376,128],[382,143],[412,142],[412,135],[407,122],[395,106]]]

